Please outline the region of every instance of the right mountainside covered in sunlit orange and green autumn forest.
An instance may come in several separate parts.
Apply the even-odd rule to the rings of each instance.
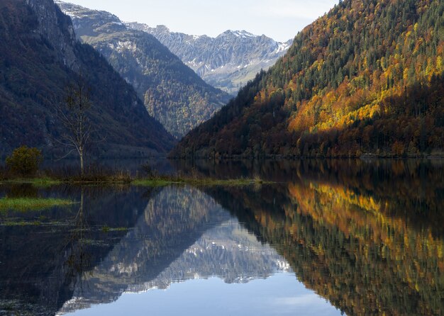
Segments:
[[[172,156],[442,154],[444,2],[345,0]]]

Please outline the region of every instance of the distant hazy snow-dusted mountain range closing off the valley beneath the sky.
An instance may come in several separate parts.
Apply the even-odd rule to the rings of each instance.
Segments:
[[[207,83],[233,95],[260,69],[270,68],[285,55],[293,42],[279,43],[245,30],[227,30],[211,38],[171,32],[166,26],[151,28],[137,22],[125,24],[155,36]]]

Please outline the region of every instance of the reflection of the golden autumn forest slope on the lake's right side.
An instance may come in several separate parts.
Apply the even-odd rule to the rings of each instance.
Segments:
[[[299,164],[278,186],[205,191],[348,315],[443,315],[442,169],[321,168]]]

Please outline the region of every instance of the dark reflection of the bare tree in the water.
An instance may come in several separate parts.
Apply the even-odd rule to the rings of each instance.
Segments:
[[[75,215],[72,234],[69,235],[65,257],[67,266],[67,279],[72,280],[72,287],[83,289],[84,272],[91,265],[91,254],[87,252],[87,233],[90,231],[84,210],[84,188],[82,187],[79,211]]]

